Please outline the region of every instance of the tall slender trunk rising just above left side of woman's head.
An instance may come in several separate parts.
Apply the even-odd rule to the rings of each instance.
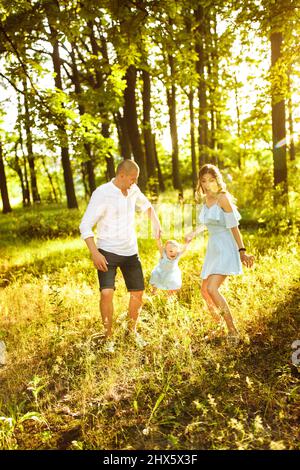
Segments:
[[[197,40],[195,50],[198,56],[196,62],[196,70],[199,74],[199,87],[198,87],[198,101],[199,101],[199,132],[198,132],[198,146],[199,146],[199,166],[209,160],[207,147],[208,147],[208,117],[207,117],[207,97],[206,97],[206,80],[205,80],[205,14],[204,7],[199,5],[195,10],[195,17],[198,23],[197,26]]]

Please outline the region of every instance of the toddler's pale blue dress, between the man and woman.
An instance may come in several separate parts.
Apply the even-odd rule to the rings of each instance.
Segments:
[[[174,259],[169,259],[165,250],[158,265],[151,273],[150,284],[158,289],[176,290],[182,285],[181,271],[178,266],[180,253]]]

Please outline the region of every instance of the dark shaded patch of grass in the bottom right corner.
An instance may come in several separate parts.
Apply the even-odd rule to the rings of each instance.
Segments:
[[[271,440],[283,441],[285,448],[299,448],[300,363],[292,361],[292,345],[300,340],[299,283],[291,289],[290,299],[279,304],[271,318],[263,314],[254,317],[247,332],[249,344],[231,347],[224,340],[209,346],[200,345],[198,363],[206,379],[193,387],[184,387],[185,403],[199,402],[200,405],[199,411],[191,405],[182,410],[181,429],[185,432],[181,432],[184,438],[179,448],[236,449],[238,440],[243,440],[243,433],[253,434],[257,417],[262,419],[266,429],[265,434],[261,433],[264,439],[253,438],[249,448],[268,449]],[[191,380],[192,375],[185,380]],[[176,409],[176,403],[170,403],[170,407]],[[226,442],[222,447],[217,428],[224,432],[231,419],[237,420],[232,421],[236,424],[232,443]],[[195,422],[202,424],[195,426],[189,435],[186,429],[193,428]],[[160,428],[160,431],[164,435],[174,434],[174,428]],[[157,443],[155,440],[154,444]],[[165,445],[170,442],[165,441]]]

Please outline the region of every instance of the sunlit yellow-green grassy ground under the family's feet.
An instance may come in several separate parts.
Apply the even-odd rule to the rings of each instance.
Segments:
[[[79,213],[72,212],[74,233],[70,226],[60,233],[59,220],[55,208],[0,220],[0,339],[8,357],[0,369],[2,449],[299,449],[296,233],[244,231],[255,268],[222,288],[239,346],[203,341],[212,325],[199,293],[199,239],[180,262],[177,300],[151,297],[147,288],[144,348],[125,334],[128,298],[118,277],[117,347],[109,354],[93,339],[102,332],[98,286],[74,235]],[[155,242],[142,240],[140,254],[148,280]]]

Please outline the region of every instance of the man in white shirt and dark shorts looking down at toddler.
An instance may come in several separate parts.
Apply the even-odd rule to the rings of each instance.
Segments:
[[[80,224],[81,236],[98,270],[100,312],[106,337],[112,334],[113,295],[118,267],[130,292],[128,316],[129,327],[133,332],[136,332],[142,307],[145,286],[134,227],[136,208],[147,210],[155,238],[160,238],[161,233],[161,226],[151,203],[136,185],[139,171],[138,165],[132,160],[120,163],[116,177],[93,192]],[[97,243],[92,230],[95,224]]]

